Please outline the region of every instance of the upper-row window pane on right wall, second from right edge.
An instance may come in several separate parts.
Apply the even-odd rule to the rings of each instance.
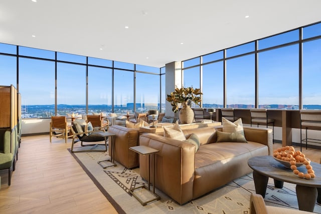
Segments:
[[[299,30],[290,31],[287,33],[279,34],[273,37],[268,37],[266,39],[259,40],[258,47],[259,50],[270,48],[277,45],[283,45],[290,42],[298,41]]]

